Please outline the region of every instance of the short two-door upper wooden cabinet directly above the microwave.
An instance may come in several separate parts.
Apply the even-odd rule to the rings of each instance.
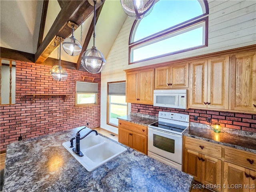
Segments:
[[[155,68],[155,89],[188,88],[188,62]]]

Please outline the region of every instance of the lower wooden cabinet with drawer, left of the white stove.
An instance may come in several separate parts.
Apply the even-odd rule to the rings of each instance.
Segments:
[[[148,128],[132,122],[118,120],[118,142],[148,154]]]

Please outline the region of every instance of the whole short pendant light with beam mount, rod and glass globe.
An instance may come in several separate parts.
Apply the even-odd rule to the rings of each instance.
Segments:
[[[82,24],[81,24],[82,25]],[[77,56],[81,53],[82,51],[82,46],[79,43],[78,40],[76,40],[76,38],[74,38],[74,28],[78,28],[78,25],[69,21],[68,22],[68,26],[70,28],[72,28],[72,36],[69,38],[66,38],[63,43],[62,43],[62,47],[64,49],[64,51],[71,55],[71,56]],[[82,36],[82,26],[81,26],[81,36]],[[82,39],[82,37],[81,37]]]

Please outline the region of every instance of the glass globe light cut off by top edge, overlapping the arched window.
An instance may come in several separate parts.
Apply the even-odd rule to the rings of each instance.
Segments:
[[[155,0],[120,0],[124,12],[136,20],[146,17],[152,11]]]

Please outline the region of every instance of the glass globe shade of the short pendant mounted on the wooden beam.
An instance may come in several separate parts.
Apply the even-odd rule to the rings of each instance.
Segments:
[[[74,38],[74,36],[66,38],[62,43],[62,47],[64,51],[71,56],[77,56],[82,51],[81,44]]]

